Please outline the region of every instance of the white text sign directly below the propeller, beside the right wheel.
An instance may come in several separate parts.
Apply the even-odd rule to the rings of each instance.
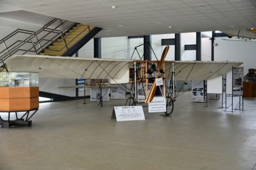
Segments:
[[[166,112],[166,98],[154,97],[149,103],[149,113],[153,112]]]

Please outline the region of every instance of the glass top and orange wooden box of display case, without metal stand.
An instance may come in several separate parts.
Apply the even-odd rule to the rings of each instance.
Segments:
[[[38,73],[0,72],[0,112],[39,107]]]

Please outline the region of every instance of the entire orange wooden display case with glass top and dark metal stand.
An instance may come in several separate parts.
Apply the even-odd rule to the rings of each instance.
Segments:
[[[7,120],[0,115],[1,126],[31,126],[30,118],[39,107],[38,97],[38,73],[0,72],[0,114],[9,113]],[[16,120],[10,120],[11,112],[15,113]],[[19,112],[22,113],[20,118]]]

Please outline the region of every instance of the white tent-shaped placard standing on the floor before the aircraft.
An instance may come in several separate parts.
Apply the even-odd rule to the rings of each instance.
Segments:
[[[112,119],[116,121],[145,120],[142,106],[114,107]]]

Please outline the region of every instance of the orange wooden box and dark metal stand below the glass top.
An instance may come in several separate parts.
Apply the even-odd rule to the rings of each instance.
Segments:
[[[10,126],[32,126],[30,118],[39,107],[39,87],[0,87],[0,112],[8,113],[8,120],[0,116],[2,128]],[[15,113],[16,120],[10,120]],[[18,118],[18,112],[25,112]],[[30,114],[32,112],[32,114]]]

